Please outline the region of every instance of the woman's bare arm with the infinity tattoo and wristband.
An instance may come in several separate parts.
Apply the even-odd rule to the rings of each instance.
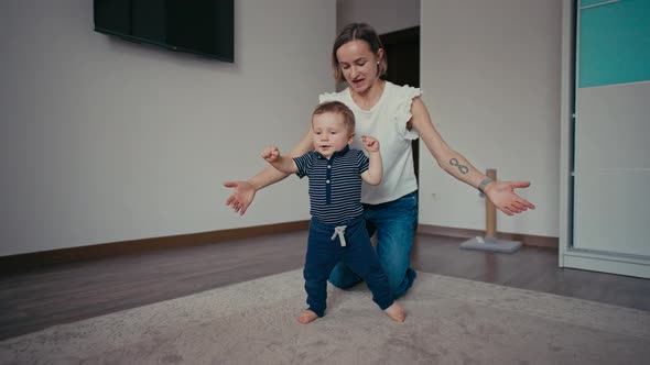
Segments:
[[[476,169],[463,155],[449,147],[433,126],[429,111],[420,98],[413,99],[411,114],[413,115],[411,119],[412,128],[418,131],[438,166],[456,179],[478,188],[487,176]],[[528,181],[494,181],[488,184],[484,191],[495,207],[503,213],[512,215],[528,209],[534,209],[531,202],[522,199],[513,191],[514,188],[526,188],[528,186],[530,186]]]

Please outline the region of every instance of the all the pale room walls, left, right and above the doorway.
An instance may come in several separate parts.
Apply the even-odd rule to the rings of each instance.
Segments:
[[[328,0],[238,0],[235,64],[95,33],[91,1],[0,2],[0,256],[307,219],[306,181],[262,190],[243,218],[221,182],[302,136],[334,89],[337,19],[420,23],[420,1],[367,2],[337,1],[337,18]],[[477,167],[533,182],[520,191],[538,209],[499,214],[502,232],[557,235],[560,2],[422,1],[423,99],[441,133]],[[483,229],[476,191],[421,164],[420,222]]]

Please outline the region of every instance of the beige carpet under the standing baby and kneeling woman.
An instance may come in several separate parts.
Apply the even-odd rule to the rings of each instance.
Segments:
[[[361,285],[303,325],[301,270],[0,342],[0,364],[648,364],[650,312],[419,273],[394,323]]]

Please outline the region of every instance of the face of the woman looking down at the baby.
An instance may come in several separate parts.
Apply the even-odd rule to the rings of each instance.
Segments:
[[[373,54],[368,43],[350,41],[336,49],[338,66],[347,84],[357,93],[364,93],[377,81],[378,62],[383,49]]]

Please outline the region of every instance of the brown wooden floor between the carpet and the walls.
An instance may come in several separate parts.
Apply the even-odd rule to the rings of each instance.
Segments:
[[[473,280],[650,310],[650,280],[557,267],[553,248],[514,254],[415,239],[413,267]],[[0,277],[0,340],[301,268],[306,232],[76,263]]]

